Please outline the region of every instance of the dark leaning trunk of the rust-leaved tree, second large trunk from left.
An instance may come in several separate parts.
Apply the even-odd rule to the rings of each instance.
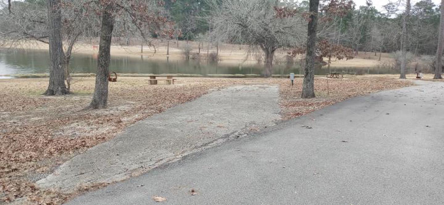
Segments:
[[[108,75],[111,61],[111,37],[114,29],[114,18],[110,13],[112,8],[107,6],[102,12],[100,29],[99,58],[95,76],[94,95],[90,104],[92,109],[105,108],[108,102]]]

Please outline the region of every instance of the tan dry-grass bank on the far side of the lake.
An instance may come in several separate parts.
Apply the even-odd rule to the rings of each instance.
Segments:
[[[116,45],[111,44],[111,56],[127,56],[133,58],[164,60],[169,57],[171,60],[184,60],[182,48],[188,44],[190,47],[190,55],[198,56],[202,59],[207,58],[207,53],[218,53],[219,62],[222,64],[257,64],[258,61],[262,61],[262,52],[249,53],[249,46],[247,45],[235,45],[235,44],[220,44],[218,47],[214,45],[208,45],[203,43],[199,45],[199,42],[189,41],[172,41],[170,40],[169,49],[167,48],[166,40],[153,40],[155,47],[142,46],[140,44],[134,45]],[[24,50],[48,50],[48,45],[41,42],[28,41],[21,44],[17,44],[14,47],[4,46],[0,47],[4,49],[24,49]],[[200,49],[199,49],[200,48]],[[141,52],[143,50],[143,52]],[[200,54],[198,54],[200,51]],[[94,43],[79,42],[75,44],[73,48],[73,54],[87,54],[97,55],[98,47]],[[287,50],[278,49],[275,54],[275,62],[286,60]],[[167,55],[167,53],[169,55]],[[358,56],[351,60],[335,60],[332,59],[331,68],[373,68],[378,66],[383,61],[392,60],[390,53],[382,53],[381,61],[378,61],[379,54],[374,56],[370,52],[359,52]]]

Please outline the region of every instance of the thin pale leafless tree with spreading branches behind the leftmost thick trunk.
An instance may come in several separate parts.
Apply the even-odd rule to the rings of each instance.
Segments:
[[[61,28],[59,32],[62,37],[62,68],[65,72],[67,90],[70,91],[71,77],[69,62],[74,45],[79,38],[88,32],[95,31],[98,18],[86,15],[81,2],[61,0]],[[47,2],[14,2],[14,12],[2,15],[0,22],[0,44],[11,48],[21,47],[23,44],[32,44],[35,41],[49,44],[48,7]],[[93,36],[93,35],[92,35]]]

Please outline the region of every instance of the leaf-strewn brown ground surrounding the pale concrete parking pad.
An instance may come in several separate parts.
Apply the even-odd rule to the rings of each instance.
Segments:
[[[412,76],[409,76],[412,77]],[[302,78],[178,78],[174,85],[149,85],[147,77],[119,77],[110,83],[109,107],[83,111],[94,90],[93,77],[75,78],[68,96],[41,96],[47,78],[0,80],[0,203],[28,198],[30,204],[61,204],[72,195],[40,190],[34,182],[71,157],[108,141],[127,126],[193,100],[214,88],[277,84],[283,119],[353,96],[412,85],[385,77],[316,78],[316,98],[301,99]],[[96,187],[102,185],[96,185]],[[91,189],[84,187],[79,192]],[[72,193],[75,194],[75,193]]]

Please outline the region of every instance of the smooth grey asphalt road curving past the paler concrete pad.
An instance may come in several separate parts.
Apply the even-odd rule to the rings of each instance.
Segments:
[[[346,100],[68,204],[444,204],[444,83],[420,84]]]

